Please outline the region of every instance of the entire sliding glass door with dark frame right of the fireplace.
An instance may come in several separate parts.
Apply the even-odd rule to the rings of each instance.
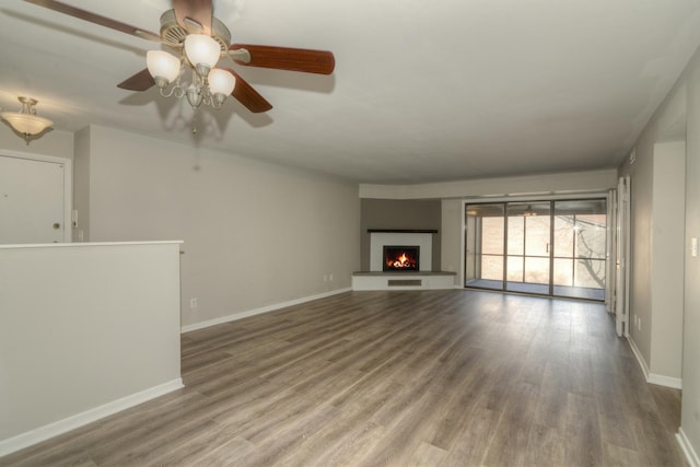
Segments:
[[[469,203],[465,287],[605,299],[606,200]]]

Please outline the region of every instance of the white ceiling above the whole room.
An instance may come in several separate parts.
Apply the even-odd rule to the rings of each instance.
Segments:
[[[168,0],[63,0],[158,33]],[[364,183],[614,167],[700,44],[700,0],[214,0],[234,43],[331,50],[334,74],[235,66],[273,106],[192,112],[116,87],[153,43],[0,4],[0,106]],[[44,138],[51,138],[50,132]]]

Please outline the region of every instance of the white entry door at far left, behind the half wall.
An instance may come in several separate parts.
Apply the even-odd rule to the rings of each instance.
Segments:
[[[0,155],[0,244],[65,242],[65,170]]]

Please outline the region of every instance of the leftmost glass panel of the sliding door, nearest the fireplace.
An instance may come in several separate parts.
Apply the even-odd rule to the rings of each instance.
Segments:
[[[467,205],[465,285],[503,290],[504,205]]]

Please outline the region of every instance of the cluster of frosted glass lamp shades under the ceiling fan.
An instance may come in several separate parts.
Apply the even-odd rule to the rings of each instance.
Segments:
[[[205,103],[218,109],[236,84],[233,74],[214,68],[220,56],[221,46],[215,39],[206,34],[188,34],[179,58],[164,50],[150,50],[147,65],[163,97],[186,96],[192,108]],[[184,87],[182,78],[187,68],[192,78],[189,86]]]

